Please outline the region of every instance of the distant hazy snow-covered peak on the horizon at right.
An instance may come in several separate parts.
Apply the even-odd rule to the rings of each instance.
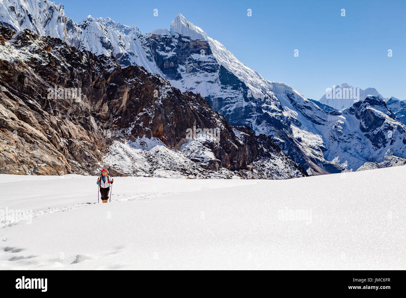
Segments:
[[[375,88],[355,88],[347,83],[332,86],[319,100],[320,103],[333,107],[336,110],[347,109],[357,101],[365,99],[368,95],[383,96]]]

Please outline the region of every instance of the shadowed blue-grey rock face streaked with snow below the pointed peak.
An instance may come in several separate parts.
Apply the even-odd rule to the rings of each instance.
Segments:
[[[246,115],[255,107],[249,99],[249,88],[217,63],[206,40],[155,31],[145,34],[143,41],[173,86],[199,93],[233,124],[250,125]]]

